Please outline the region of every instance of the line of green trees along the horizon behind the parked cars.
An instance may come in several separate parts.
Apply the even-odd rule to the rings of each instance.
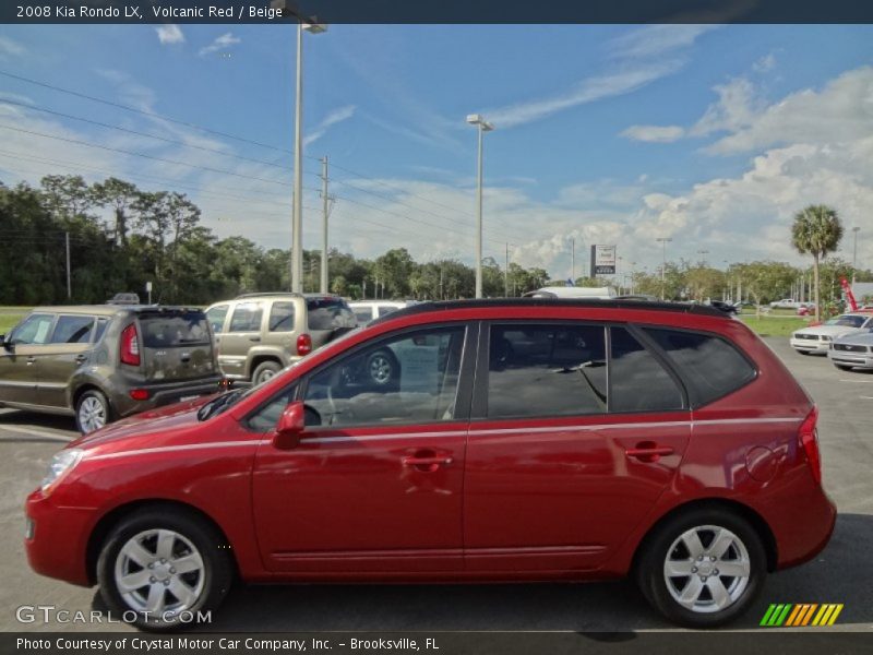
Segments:
[[[625,293],[667,299],[742,298],[760,303],[797,296],[801,278],[810,284],[817,275],[823,301],[834,300],[839,298],[839,277],[851,277],[852,270],[848,262],[827,257],[841,236],[841,227],[836,240],[833,229],[828,231],[833,218],[835,214],[818,223],[810,218],[813,227],[796,229],[796,246],[809,237],[803,241],[805,252],[817,248],[812,273],[773,261],[719,270],[680,260],[668,262],[662,277],[660,270],[644,270],[622,278],[579,277],[575,283],[620,286]],[[290,288],[288,250],[264,249],[240,236],[218,239],[200,221],[200,209],[184,194],[143,191],[117,178],[88,184],[80,176],[46,176],[38,188],[26,183],[8,188],[0,182],[0,305],[104,302],[119,291],[136,291],[145,300],[146,282],[153,284],[152,300],[165,303],[207,305],[241,293]],[[823,243],[828,246],[824,251],[818,248]],[[320,269],[321,252],[304,250],[303,290],[319,290]],[[405,248],[372,260],[333,249],[328,270],[330,290],[354,299],[453,299],[475,294],[471,266],[454,259],[416,262]],[[856,275],[873,281],[870,271]],[[507,269],[492,258],[482,262],[487,297],[521,296],[550,284],[564,281],[515,262]]]

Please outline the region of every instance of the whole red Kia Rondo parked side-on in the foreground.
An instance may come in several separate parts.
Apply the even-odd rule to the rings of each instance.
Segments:
[[[633,575],[672,621],[716,626],[830,536],[816,417],[715,309],[424,303],[71,443],[27,499],[26,548],[146,628],[237,576]]]

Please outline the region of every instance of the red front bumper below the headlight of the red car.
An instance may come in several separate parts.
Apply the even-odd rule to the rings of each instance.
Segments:
[[[31,568],[40,575],[91,586],[86,550],[94,510],[58,507],[40,489],[27,497],[24,508],[28,522],[24,549]]]

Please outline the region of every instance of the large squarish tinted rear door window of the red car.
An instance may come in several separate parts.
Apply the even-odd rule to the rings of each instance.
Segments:
[[[494,325],[488,416],[606,413],[606,365],[602,325]]]

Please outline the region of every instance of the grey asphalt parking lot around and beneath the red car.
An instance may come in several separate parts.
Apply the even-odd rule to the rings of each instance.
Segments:
[[[814,561],[768,577],[732,629],[756,630],[770,603],[842,603],[833,629],[873,631],[873,374],[767,340],[821,409],[824,484],[840,515]],[[40,577],[26,564],[22,503],[51,454],[72,438],[69,418],[0,410],[0,630],[129,630],[121,624],[20,623],[16,608],[99,608],[94,590]],[[208,631],[670,630],[629,582],[579,585],[303,585],[237,587]]]

